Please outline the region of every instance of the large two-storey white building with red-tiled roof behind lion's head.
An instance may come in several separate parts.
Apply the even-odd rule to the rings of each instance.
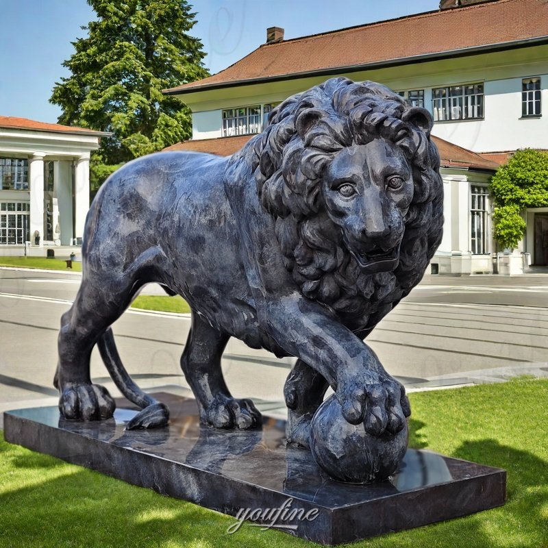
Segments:
[[[266,43],[242,60],[165,92],[192,110],[195,142],[259,132],[273,105],[336,75],[399,91],[432,112],[438,145],[447,142],[445,233],[433,263],[440,273],[489,272],[497,249],[488,179],[516,149],[548,149],[548,2],[442,0],[440,6],[292,40],[271,27]],[[449,142],[462,148],[451,151]],[[467,162],[451,158],[457,149],[475,155]],[[547,212],[527,212],[519,249],[536,264],[547,260],[535,256],[548,243],[545,218]]]

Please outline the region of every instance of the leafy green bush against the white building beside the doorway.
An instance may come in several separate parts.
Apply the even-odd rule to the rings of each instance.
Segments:
[[[495,238],[516,247],[525,232],[526,208],[548,207],[548,152],[521,149],[500,166],[490,182],[495,198]]]

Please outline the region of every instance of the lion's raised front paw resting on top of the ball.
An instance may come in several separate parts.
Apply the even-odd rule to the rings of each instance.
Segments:
[[[410,416],[406,390],[388,373],[369,373],[341,384],[337,399],[351,424],[363,421],[366,432],[380,436],[385,430],[397,434]]]

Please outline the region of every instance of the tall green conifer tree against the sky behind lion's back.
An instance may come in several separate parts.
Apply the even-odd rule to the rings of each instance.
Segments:
[[[188,34],[195,13],[186,0],[88,0],[97,21],[73,42],[50,102],[59,123],[111,132],[91,161],[92,188],[120,164],[191,134],[190,111],[162,89],[201,79],[202,44]]]

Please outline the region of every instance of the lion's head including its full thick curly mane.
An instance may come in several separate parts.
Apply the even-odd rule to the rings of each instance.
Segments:
[[[286,99],[245,147],[286,268],[352,329],[407,295],[439,245],[431,128],[427,110],[388,88],[335,78]]]

